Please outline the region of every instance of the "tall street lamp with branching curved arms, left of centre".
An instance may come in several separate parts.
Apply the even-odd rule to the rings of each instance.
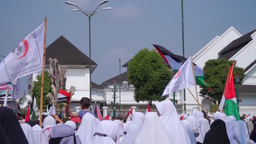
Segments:
[[[107,0],[102,1],[101,3],[98,4],[98,7],[100,7],[102,4],[107,3]],[[106,7],[106,8],[101,8],[101,10],[97,11],[98,7],[95,10],[82,10],[78,7],[77,4],[72,3],[72,2],[65,2],[66,4],[73,5],[74,7],[77,7],[77,9],[73,9],[72,11],[81,11],[84,15],[86,15],[89,19],[89,71],[90,71],[90,106],[91,106],[91,17],[96,15],[97,13],[100,13],[102,10],[109,10],[113,9],[112,7]],[[91,107],[90,107],[91,110]]]

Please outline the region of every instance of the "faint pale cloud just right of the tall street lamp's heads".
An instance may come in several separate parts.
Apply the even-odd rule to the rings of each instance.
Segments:
[[[134,4],[126,4],[123,7],[113,9],[113,14],[118,18],[145,17],[142,7]]]

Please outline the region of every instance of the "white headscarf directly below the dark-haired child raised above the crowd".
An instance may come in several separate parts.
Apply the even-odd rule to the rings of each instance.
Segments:
[[[85,113],[82,122],[77,130],[77,134],[82,143],[90,143],[94,138],[94,133],[97,127],[97,118],[91,113]]]

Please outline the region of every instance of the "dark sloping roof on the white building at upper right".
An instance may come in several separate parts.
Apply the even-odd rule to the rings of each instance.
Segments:
[[[251,40],[251,35],[256,31],[249,32],[242,37],[233,40],[224,49],[219,52],[219,58],[229,59],[234,56],[238,51],[240,51],[244,46],[246,46]]]

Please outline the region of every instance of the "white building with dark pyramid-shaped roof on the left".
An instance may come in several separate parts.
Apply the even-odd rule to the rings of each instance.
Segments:
[[[90,73],[93,73],[97,64],[91,61],[91,71],[89,71],[89,57],[81,52],[77,47],[70,43],[65,37],[61,36],[46,48],[45,70],[49,71],[49,58],[56,58],[61,68],[66,69],[66,89],[75,86],[75,91],[72,97],[71,109],[80,106],[80,99],[90,97]],[[33,81],[36,80],[38,74],[33,74]],[[103,87],[91,82],[92,86],[92,107],[95,101],[99,102],[98,106],[103,106],[104,91]]]

